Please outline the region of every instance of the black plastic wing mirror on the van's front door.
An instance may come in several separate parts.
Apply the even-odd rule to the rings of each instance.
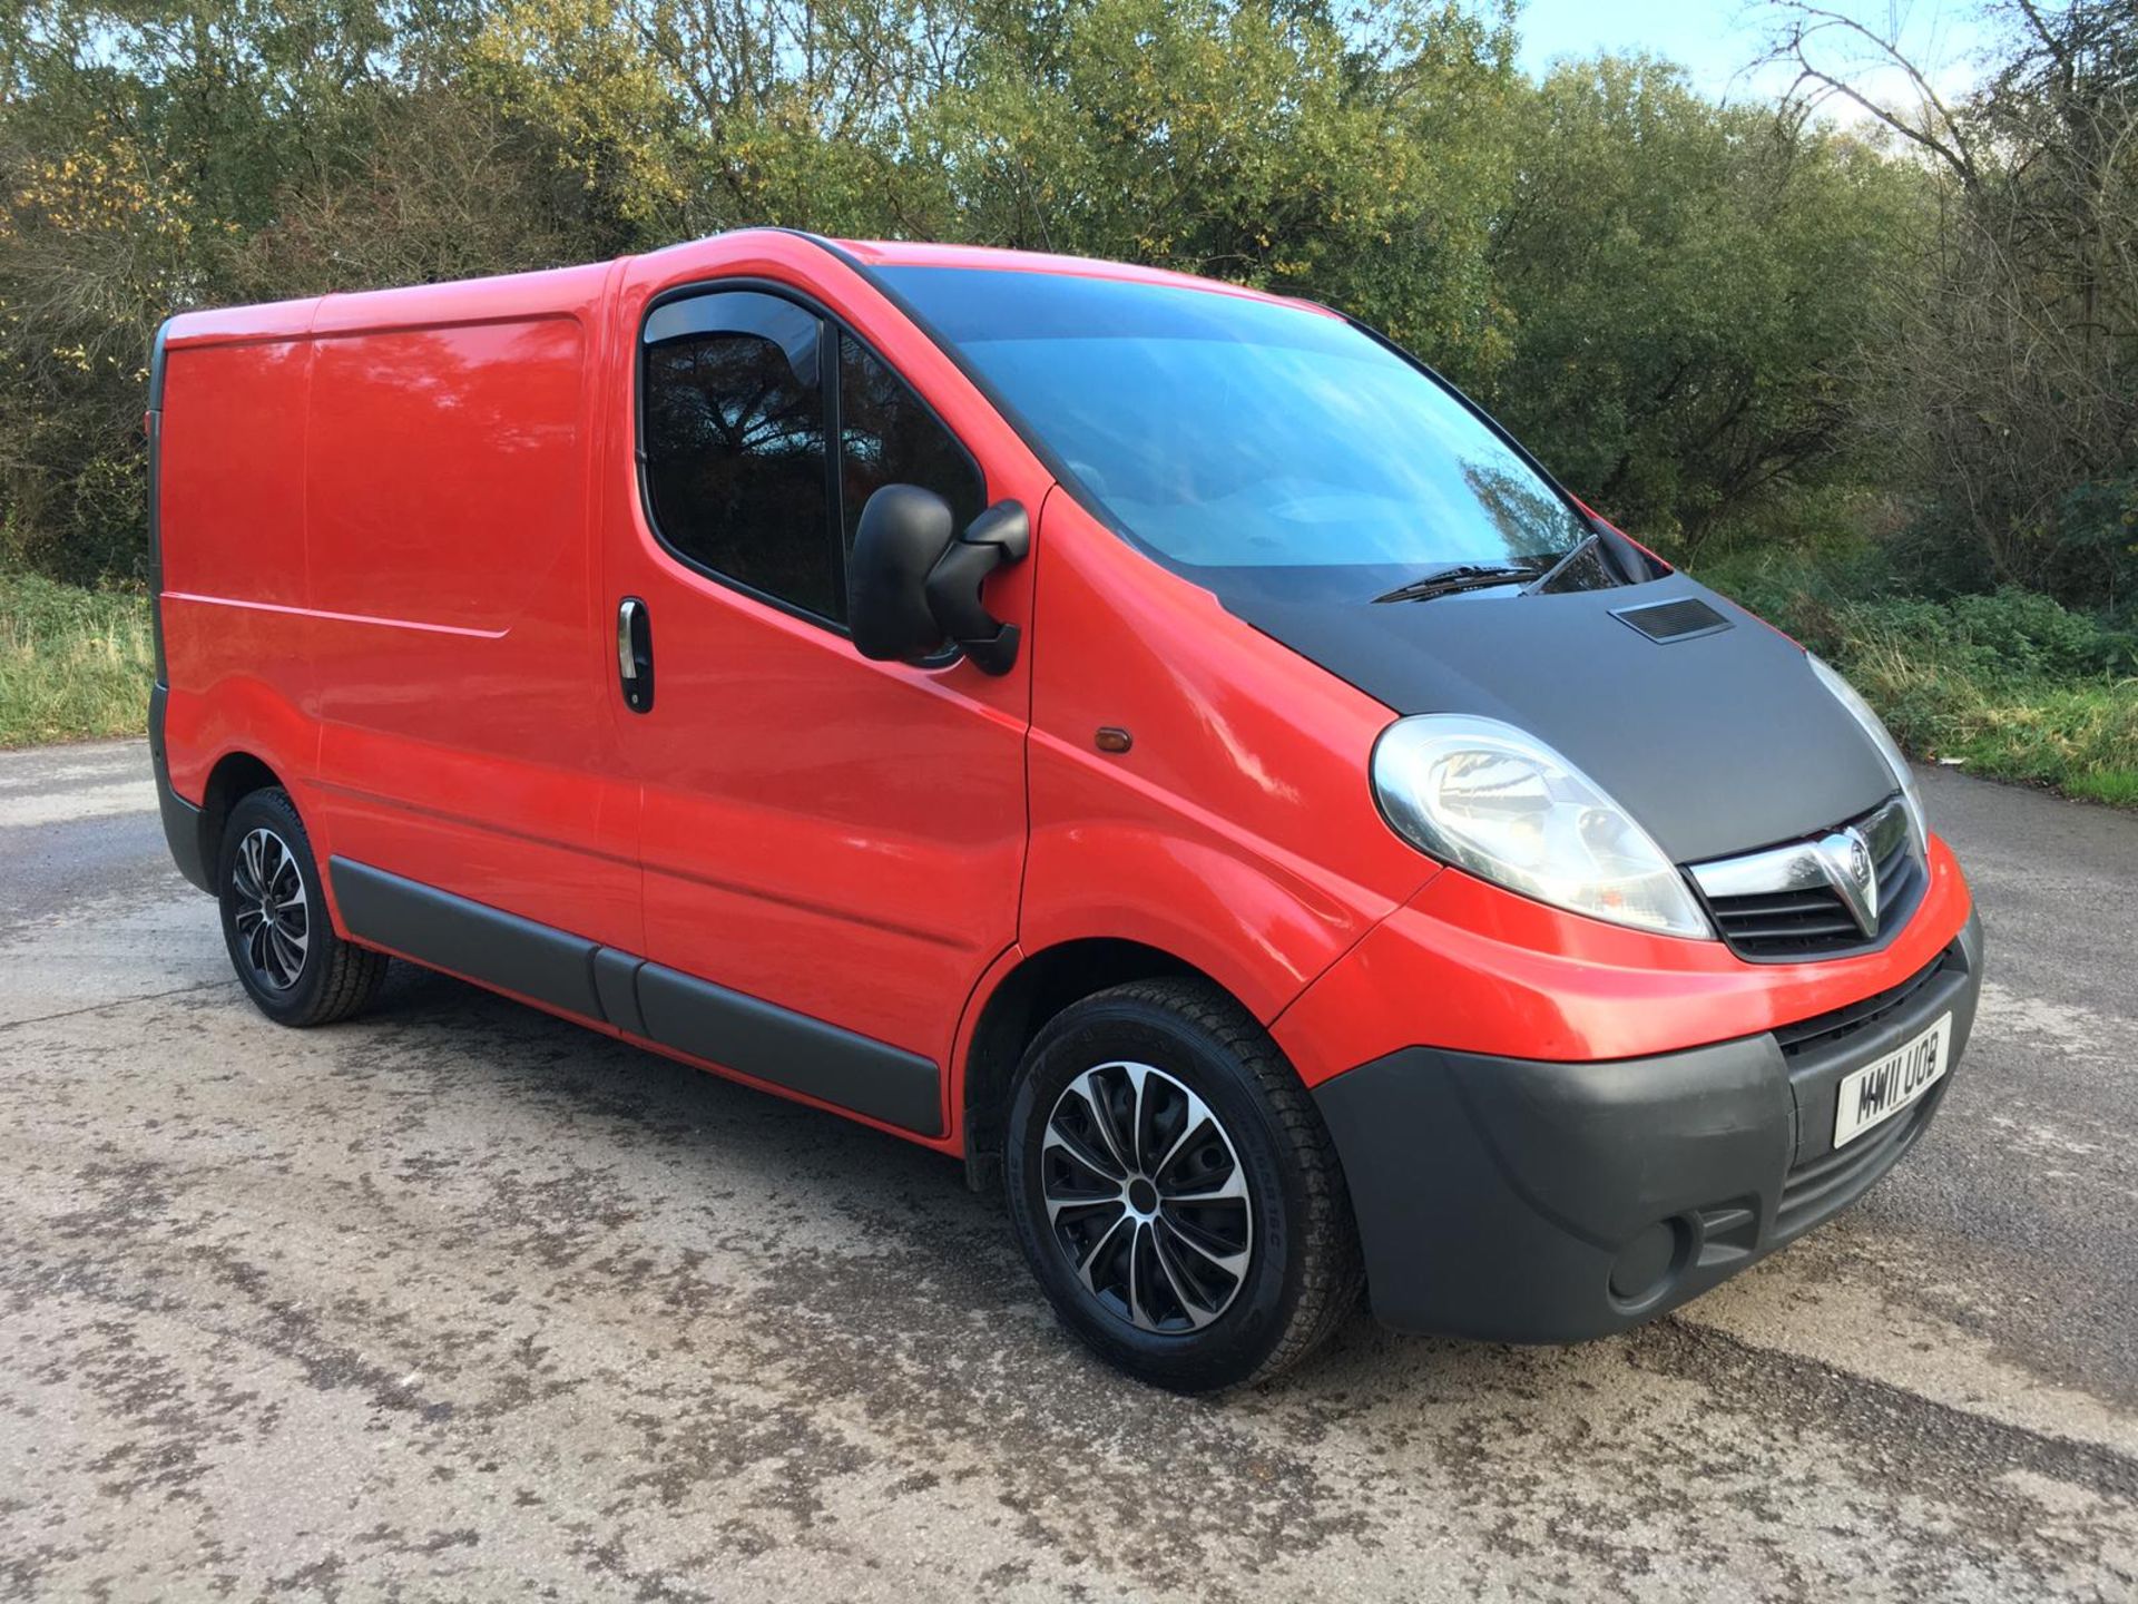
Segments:
[[[847,560],[847,629],[862,657],[911,663],[945,635],[983,674],[1009,674],[1018,627],[979,603],[981,582],[1033,543],[1024,507],[1003,500],[956,535],[949,503],[919,485],[883,485],[862,507]]]

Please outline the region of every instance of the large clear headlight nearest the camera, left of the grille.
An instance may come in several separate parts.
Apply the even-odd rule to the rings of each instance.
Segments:
[[[1398,719],[1375,742],[1373,789],[1407,840],[1509,892],[1642,930],[1713,935],[1648,832],[1514,725]]]

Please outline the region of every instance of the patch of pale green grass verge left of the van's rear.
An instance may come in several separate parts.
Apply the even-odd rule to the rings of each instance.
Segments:
[[[154,674],[145,597],[0,573],[0,746],[139,736]]]

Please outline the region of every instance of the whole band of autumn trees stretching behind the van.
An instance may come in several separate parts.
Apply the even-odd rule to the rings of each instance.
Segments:
[[[1997,0],[1978,94],[1884,105],[1849,2],[1777,0],[1777,109],[1640,60],[1531,83],[1505,0],[32,0],[0,560],[143,575],[173,310],[780,222],[1332,304],[1678,554],[1879,483],[1950,582],[2125,599],[2138,21]]]

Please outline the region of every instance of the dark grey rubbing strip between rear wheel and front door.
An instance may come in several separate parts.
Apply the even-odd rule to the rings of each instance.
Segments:
[[[334,900],[357,941],[404,952],[537,1003],[603,1018],[594,943],[383,868],[331,858]]]

